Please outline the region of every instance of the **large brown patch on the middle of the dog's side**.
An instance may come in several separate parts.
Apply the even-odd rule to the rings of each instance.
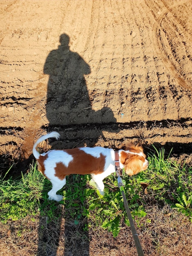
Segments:
[[[103,173],[105,167],[105,156],[100,154],[100,157],[93,157],[85,153],[79,148],[65,149],[73,160],[66,167],[62,162],[56,164],[55,176],[63,180],[65,176],[70,174],[100,174]]]

